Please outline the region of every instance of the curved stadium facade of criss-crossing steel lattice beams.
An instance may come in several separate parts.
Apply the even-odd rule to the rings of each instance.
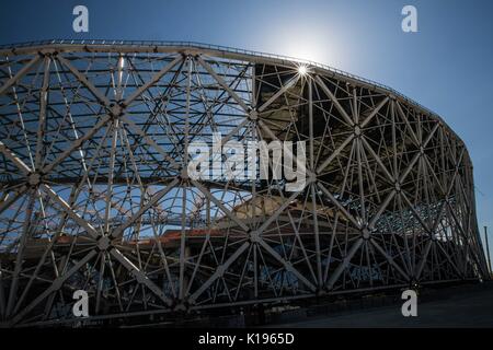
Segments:
[[[300,73],[299,67],[307,69]],[[0,319],[172,314],[488,276],[463,142],[314,63],[177,43],[0,48]],[[307,186],[195,180],[186,148],[306,141]]]

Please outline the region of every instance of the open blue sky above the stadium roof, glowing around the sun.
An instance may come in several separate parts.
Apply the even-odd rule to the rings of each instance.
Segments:
[[[89,33],[72,9],[89,9]],[[417,9],[419,33],[401,31]],[[311,59],[390,85],[439,114],[474,164],[493,231],[493,1],[2,1],[0,44],[48,38],[195,40]],[[490,234],[493,245],[493,233]]]

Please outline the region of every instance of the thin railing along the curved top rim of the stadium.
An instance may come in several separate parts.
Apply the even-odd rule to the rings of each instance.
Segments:
[[[306,59],[299,59],[295,57],[289,56],[283,56],[283,55],[276,55],[276,54],[266,54],[261,51],[254,51],[254,50],[245,50],[229,46],[222,46],[222,45],[210,45],[210,44],[204,44],[204,43],[196,43],[196,42],[170,42],[170,40],[106,40],[106,39],[50,39],[50,40],[37,40],[37,42],[24,42],[19,44],[3,44],[0,45],[0,49],[13,49],[13,48],[20,48],[20,47],[30,47],[30,46],[43,46],[43,45],[99,45],[99,46],[113,46],[113,45],[125,45],[125,46],[177,46],[177,47],[191,47],[191,48],[197,48],[197,49],[210,49],[210,50],[217,50],[221,52],[232,52],[232,54],[241,54],[241,55],[248,55],[248,56],[256,56],[256,57],[264,57],[264,58],[272,58],[272,59],[278,59],[278,60],[285,60],[285,61],[291,61],[291,62],[298,62],[303,63],[311,67],[321,68],[334,73],[337,73],[340,75],[351,78],[354,80],[358,80],[360,82],[365,82],[366,84],[374,85],[376,88],[385,89],[392,94],[403,98],[404,101],[420,107],[422,110],[438,117],[436,113],[431,110],[429,108],[421,105],[420,103],[415,102],[414,100],[401,94],[397,90],[381,84],[379,82],[372,81],[370,79],[366,79],[359,75],[355,75],[352,73],[348,73],[346,71],[340,70],[337,68],[333,68],[328,65],[318,63],[314,61],[306,60]]]

